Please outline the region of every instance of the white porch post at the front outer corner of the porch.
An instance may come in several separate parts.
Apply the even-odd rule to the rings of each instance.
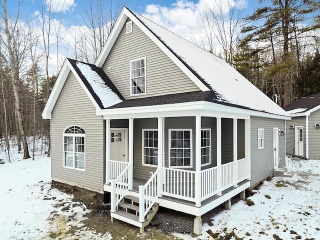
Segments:
[[[201,116],[195,116],[195,206],[201,206]]]

